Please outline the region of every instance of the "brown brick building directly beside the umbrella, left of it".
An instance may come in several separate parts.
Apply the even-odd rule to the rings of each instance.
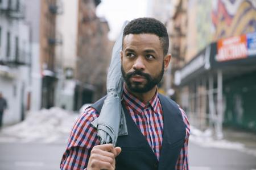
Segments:
[[[75,110],[106,94],[106,73],[111,59],[109,26],[96,16],[100,1],[79,1]]]

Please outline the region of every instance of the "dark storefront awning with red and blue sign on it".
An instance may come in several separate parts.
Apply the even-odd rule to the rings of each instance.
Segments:
[[[220,39],[207,45],[188,64],[175,72],[175,85],[221,70],[224,78],[256,71],[256,32]]]

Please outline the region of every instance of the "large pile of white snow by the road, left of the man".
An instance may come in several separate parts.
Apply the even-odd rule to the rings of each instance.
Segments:
[[[69,132],[78,117],[59,107],[30,112],[27,118],[2,130],[0,142],[55,142],[62,138],[67,142]]]

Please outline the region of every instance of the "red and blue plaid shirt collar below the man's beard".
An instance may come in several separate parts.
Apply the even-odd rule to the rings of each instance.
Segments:
[[[133,110],[137,111],[138,113],[142,113],[144,109],[148,106],[151,106],[154,113],[158,113],[160,101],[158,98],[158,90],[156,90],[155,95],[151,98],[148,102],[143,102],[131,94],[125,85],[123,85],[123,100],[126,104]]]

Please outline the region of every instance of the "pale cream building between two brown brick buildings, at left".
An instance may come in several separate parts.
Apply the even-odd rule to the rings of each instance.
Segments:
[[[61,0],[63,14],[56,17],[56,32],[62,35],[62,44],[55,47],[56,72],[59,78],[55,91],[55,106],[67,110],[73,110],[75,103],[78,2]]]

